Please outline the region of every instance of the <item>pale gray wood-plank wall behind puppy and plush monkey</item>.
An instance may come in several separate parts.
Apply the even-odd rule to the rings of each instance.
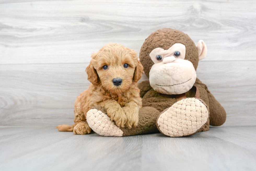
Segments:
[[[254,0],[0,0],[0,125],[72,124],[91,53],[109,42],[139,53],[169,27],[205,41],[197,77],[225,108],[223,126],[255,126],[255,10]]]

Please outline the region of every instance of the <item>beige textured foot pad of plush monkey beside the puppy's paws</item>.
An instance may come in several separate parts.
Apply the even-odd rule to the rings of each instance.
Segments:
[[[90,109],[86,114],[86,120],[90,128],[97,134],[111,137],[123,136],[123,131],[100,110]]]

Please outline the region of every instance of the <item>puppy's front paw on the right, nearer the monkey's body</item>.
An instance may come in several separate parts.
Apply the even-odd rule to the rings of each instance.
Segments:
[[[132,109],[129,107],[123,107],[123,109],[127,116],[126,126],[128,126],[129,129],[136,127],[139,122],[139,109],[137,110],[136,108]]]

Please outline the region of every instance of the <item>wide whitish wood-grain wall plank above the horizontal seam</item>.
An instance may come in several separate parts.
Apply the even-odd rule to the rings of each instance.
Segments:
[[[109,42],[139,52],[150,33],[165,27],[203,39],[205,60],[255,60],[254,0],[1,2],[2,64],[89,62]]]

